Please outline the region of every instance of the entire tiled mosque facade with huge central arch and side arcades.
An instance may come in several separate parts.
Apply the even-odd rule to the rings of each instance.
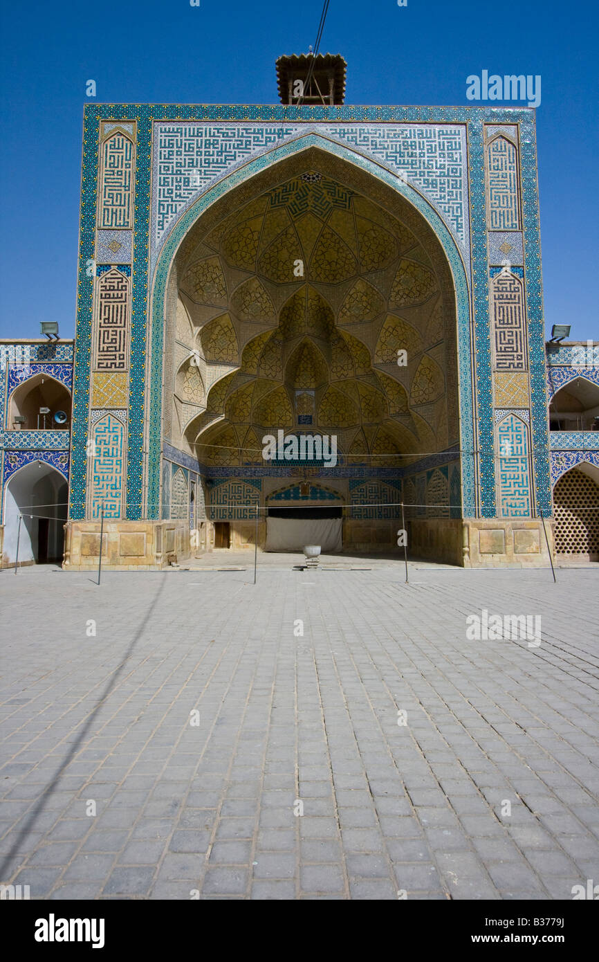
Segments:
[[[599,348],[545,342],[535,111],[282,99],[85,108],[75,340],[0,342],[3,566],[17,528],[72,570],[101,530],[114,569],[404,526],[465,567],[599,560]]]

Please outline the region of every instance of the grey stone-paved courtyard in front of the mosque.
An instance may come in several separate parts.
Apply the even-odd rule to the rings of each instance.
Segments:
[[[2,572],[0,880],[41,899],[599,882],[597,572],[410,576]],[[469,640],[483,609],[540,615],[540,645]]]

